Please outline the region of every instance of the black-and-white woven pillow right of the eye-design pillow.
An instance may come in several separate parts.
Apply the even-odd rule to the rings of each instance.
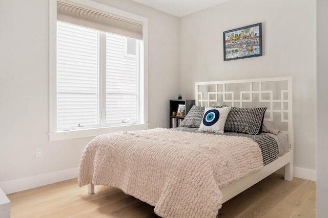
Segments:
[[[232,107],[224,126],[224,132],[239,132],[257,135],[261,133],[264,113],[267,108]]]

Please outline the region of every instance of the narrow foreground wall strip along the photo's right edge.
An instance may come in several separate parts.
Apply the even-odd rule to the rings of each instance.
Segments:
[[[317,187],[316,216],[328,205],[328,1],[317,0]]]

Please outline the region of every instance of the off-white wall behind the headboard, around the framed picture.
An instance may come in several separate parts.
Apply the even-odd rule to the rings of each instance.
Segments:
[[[263,56],[223,61],[223,31],[259,22]],[[182,17],[180,91],[192,98],[195,82],[292,76],[295,166],[315,169],[315,36],[312,0],[231,0]]]

